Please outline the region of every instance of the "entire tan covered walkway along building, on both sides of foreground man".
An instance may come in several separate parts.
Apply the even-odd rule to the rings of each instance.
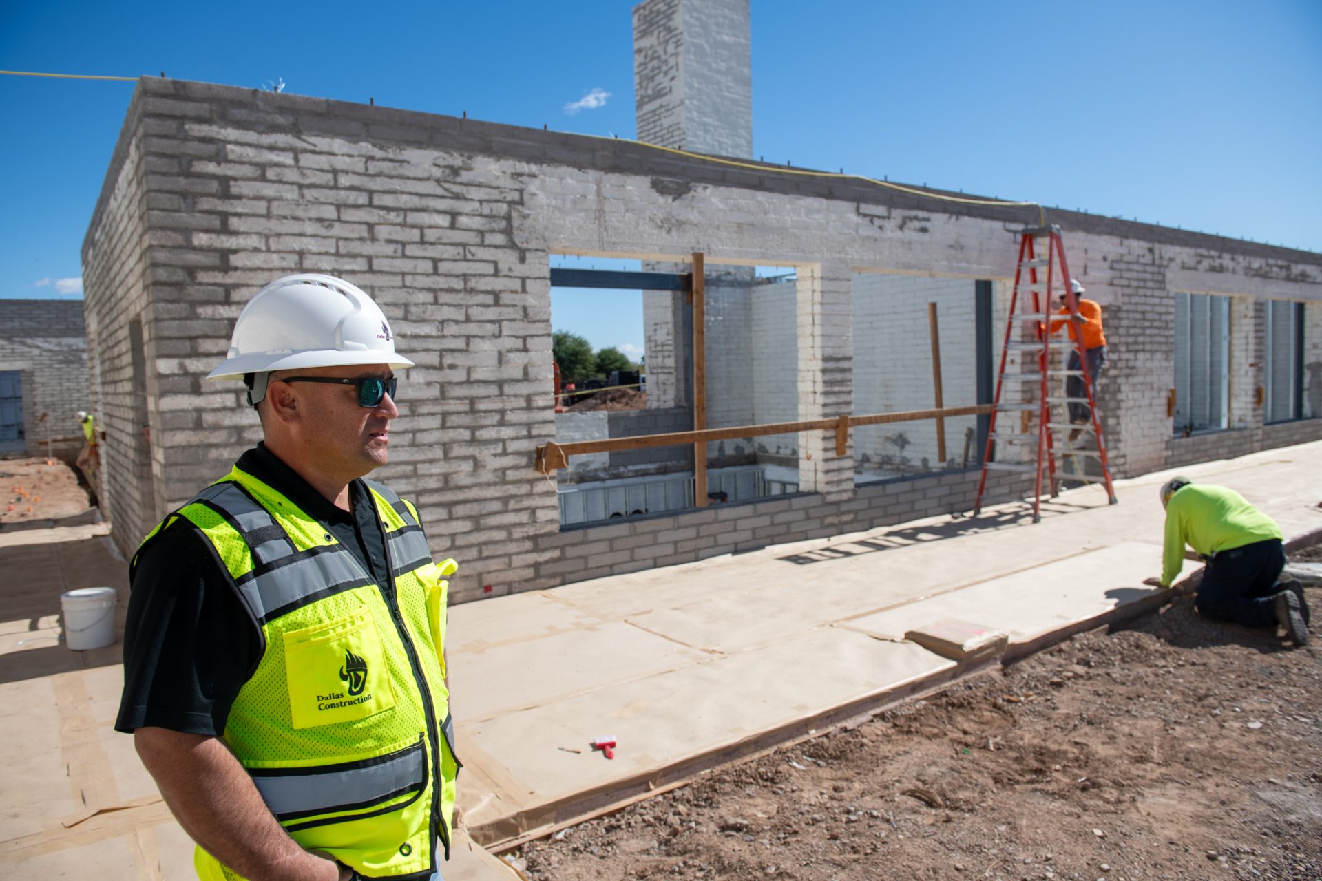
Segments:
[[[1286,535],[1322,528],[1322,442],[1183,470],[1239,489]],[[572,822],[1161,601],[1141,580],[1159,569],[1163,479],[1121,482],[1114,507],[1096,487],[1067,493],[1038,526],[1003,510],[936,518],[456,606],[469,833],[508,843]],[[132,738],[111,729],[122,646],[58,641],[59,593],[110,584],[123,601],[126,568],[103,526],[0,532],[7,878],[82,878],[90,865],[107,880],[192,877],[192,844]],[[1006,639],[962,662],[906,639],[951,619],[964,622],[956,641]],[[615,761],[588,748],[604,734],[619,738]],[[510,877],[469,844],[446,869],[447,881]]]

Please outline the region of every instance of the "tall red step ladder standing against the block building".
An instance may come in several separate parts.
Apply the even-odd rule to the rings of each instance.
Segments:
[[[995,408],[988,429],[986,449],[982,452],[982,476],[978,478],[978,494],[973,503],[973,514],[982,511],[986,491],[988,472],[1021,472],[1034,476],[1032,522],[1042,520],[1042,474],[1047,474],[1047,489],[1051,497],[1060,491],[1062,482],[1101,483],[1107,497],[1116,503],[1116,490],[1110,483],[1110,465],[1107,461],[1107,444],[1101,435],[1101,419],[1097,415],[1096,392],[1092,376],[1088,375],[1088,355],[1083,334],[1050,333],[1052,318],[1058,321],[1077,321],[1079,301],[1069,285],[1069,267],[1066,263],[1066,247],[1060,239],[1060,227],[1039,226],[1023,230],[1019,239],[1019,263],[1014,271],[1014,292],[1010,296],[1009,320],[1005,328],[1005,345],[1001,347],[1001,369],[997,371]],[[1052,304],[1056,292],[1064,292],[1068,318],[1054,314]],[[1018,330],[1018,333],[1017,333]],[[1068,353],[1079,355],[1079,370],[1068,370]],[[1010,353],[1019,353],[1018,372],[1006,372],[1005,366]],[[1058,355],[1058,357],[1054,357]],[[1059,361],[1059,363],[1056,363]],[[1068,398],[1066,383],[1069,376],[1083,376],[1087,398]],[[1052,390],[1052,380],[1058,387]],[[1007,383],[1011,387],[1010,399],[1005,400]],[[1071,424],[1069,404],[1088,404],[1091,424]],[[1001,420],[1003,413],[1018,413],[1019,425],[1014,419]],[[1034,419],[1035,415],[1035,419]],[[1036,425],[1031,423],[1036,421]],[[998,423],[1010,423],[998,425]],[[1056,442],[1056,432],[1060,440]],[[1069,435],[1077,436],[1079,445]],[[1089,445],[1088,439],[1093,439]],[[1029,453],[1034,446],[1035,464],[995,461],[997,449],[1018,449]],[[1025,454],[1022,458],[1031,458]],[[1097,462],[1097,469],[1089,469],[1089,462]],[[1097,473],[1100,470],[1100,474]]]

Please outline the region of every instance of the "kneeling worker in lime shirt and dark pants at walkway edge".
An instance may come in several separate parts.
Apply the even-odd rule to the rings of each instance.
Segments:
[[[1166,481],[1161,503],[1166,509],[1162,575],[1144,584],[1169,588],[1188,544],[1207,560],[1194,598],[1199,614],[1245,627],[1280,625],[1294,645],[1309,641],[1303,585],[1277,584],[1285,548],[1276,520],[1232,489],[1194,483],[1187,477]]]

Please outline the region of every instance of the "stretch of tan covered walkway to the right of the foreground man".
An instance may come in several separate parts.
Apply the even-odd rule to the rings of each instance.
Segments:
[[[1286,536],[1322,528],[1322,444],[1181,472],[1240,490]],[[1038,526],[1003,506],[452,609],[469,833],[509,844],[1154,608],[1169,477],[1118,482],[1116,506],[1064,493]],[[923,647],[952,634],[984,651]],[[588,748],[600,736],[613,761]]]

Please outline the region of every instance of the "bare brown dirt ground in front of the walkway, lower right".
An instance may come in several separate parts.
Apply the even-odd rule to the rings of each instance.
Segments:
[[[1185,596],[508,859],[557,881],[1322,878],[1317,630],[1294,649]]]

